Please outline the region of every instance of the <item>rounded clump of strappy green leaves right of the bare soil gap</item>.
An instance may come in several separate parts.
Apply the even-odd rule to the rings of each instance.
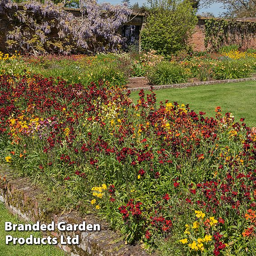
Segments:
[[[147,78],[155,85],[182,83],[187,82],[187,73],[179,64],[163,61],[150,69]]]

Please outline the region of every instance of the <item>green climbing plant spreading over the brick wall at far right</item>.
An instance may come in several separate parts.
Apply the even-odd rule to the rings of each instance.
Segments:
[[[221,46],[247,46],[256,37],[256,22],[211,18],[205,20],[205,46],[218,50]]]

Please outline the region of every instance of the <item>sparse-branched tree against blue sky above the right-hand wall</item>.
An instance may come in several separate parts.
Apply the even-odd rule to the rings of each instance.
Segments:
[[[207,8],[214,3],[223,5],[227,18],[256,17],[256,0],[205,0],[201,6]]]

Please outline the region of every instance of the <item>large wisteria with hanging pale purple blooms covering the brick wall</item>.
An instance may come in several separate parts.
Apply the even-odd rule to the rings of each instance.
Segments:
[[[127,5],[98,4],[95,0],[81,0],[81,16],[75,17],[64,4],[46,0],[23,3],[14,9],[10,0],[1,0],[0,14],[8,15],[13,30],[7,35],[12,50],[55,53],[96,53],[118,50],[123,39],[119,28],[132,13]]]

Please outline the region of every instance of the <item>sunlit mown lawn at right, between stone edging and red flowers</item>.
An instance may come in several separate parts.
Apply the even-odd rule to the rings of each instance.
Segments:
[[[224,114],[233,113],[236,121],[245,118],[249,126],[256,126],[255,81],[171,88],[155,93],[158,102],[169,100],[189,104],[192,110],[206,112],[208,116],[215,116],[215,107],[220,106]],[[138,91],[133,91],[131,97],[134,103],[137,102]]]

